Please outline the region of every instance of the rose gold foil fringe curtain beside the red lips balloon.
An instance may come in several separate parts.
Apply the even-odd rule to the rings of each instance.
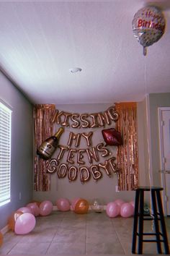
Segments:
[[[119,190],[133,190],[138,187],[137,106],[135,102],[115,105],[120,114],[116,129],[123,139],[123,145],[117,150],[117,165],[121,168],[117,174],[118,187]]]

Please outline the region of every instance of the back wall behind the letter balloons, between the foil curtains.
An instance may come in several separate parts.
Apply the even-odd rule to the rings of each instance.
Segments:
[[[109,108],[109,106],[113,106],[113,103],[103,103],[103,104],[86,104],[86,105],[56,105],[56,108],[59,111],[66,111],[78,114],[92,114],[98,112],[104,112]],[[56,126],[55,130],[60,126]],[[96,146],[99,142],[104,142],[102,137],[102,129],[107,129],[115,127],[115,122],[112,121],[112,125],[104,127],[104,128],[93,128],[93,129],[76,129],[67,127],[65,132],[61,136],[60,144],[67,145],[69,132],[82,133],[82,132],[94,132],[92,137],[92,146]],[[55,131],[54,131],[55,132]],[[71,147],[75,148],[75,147]],[[81,141],[80,148],[87,148],[86,144]],[[112,155],[116,156],[117,147],[108,147]],[[58,150],[53,155],[53,158],[56,158],[58,155]],[[112,157],[112,155],[110,157]],[[107,158],[110,158],[109,156]],[[104,160],[107,158],[100,158],[99,163],[104,163]],[[66,158],[63,158],[63,163],[66,163]],[[95,164],[95,163],[94,163]],[[96,163],[97,164],[97,163]],[[76,163],[74,164],[76,166]],[[86,166],[88,166],[88,159],[86,159]],[[78,166],[79,167],[79,166]],[[115,192],[115,188],[117,186],[117,174],[113,174],[111,178],[107,176],[103,172],[103,178],[99,179],[99,181],[94,182],[91,179],[86,184],[81,184],[80,179],[76,180],[76,182],[69,182],[68,177],[66,176],[63,179],[58,179],[57,174],[51,174],[51,191],[50,192],[34,192],[33,197],[35,200],[51,200],[53,204],[58,198],[66,197],[68,200],[72,200],[75,197],[81,197],[89,202],[93,202],[94,199],[100,200],[101,203],[106,204],[107,202],[116,200],[118,198],[122,198],[125,201],[130,201],[134,199],[134,192]]]

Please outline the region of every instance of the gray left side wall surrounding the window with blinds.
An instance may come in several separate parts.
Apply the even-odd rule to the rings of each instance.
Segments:
[[[0,229],[12,211],[32,200],[32,105],[0,73],[0,99],[12,107],[11,202],[0,207]],[[21,192],[21,200],[19,200]]]

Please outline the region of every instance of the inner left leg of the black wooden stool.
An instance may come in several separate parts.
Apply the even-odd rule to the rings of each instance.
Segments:
[[[140,208],[139,208],[139,239],[138,239],[138,254],[142,255],[143,252],[143,205],[144,205],[144,192],[140,190]]]

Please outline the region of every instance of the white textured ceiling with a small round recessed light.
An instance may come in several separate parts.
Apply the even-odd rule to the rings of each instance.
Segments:
[[[132,21],[146,4],[161,7],[166,31],[143,56]],[[1,70],[32,103],[141,101],[170,92],[169,0],[0,1],[0,24]]]

